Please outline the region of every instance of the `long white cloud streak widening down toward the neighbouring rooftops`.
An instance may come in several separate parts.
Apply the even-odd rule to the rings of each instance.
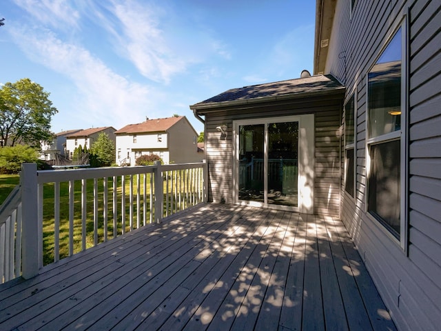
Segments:
[[[142,121],[151,108],[152,94],[147,86],[116,74],[81,46],[63,43],[47,30],[15,30],[14,35],[29,57],[74,83],[77,91],[72,94],[79,100],[72,108],[83,123],[118,128]]]

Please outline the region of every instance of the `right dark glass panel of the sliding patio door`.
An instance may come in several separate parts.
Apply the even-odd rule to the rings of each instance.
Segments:
[[[268,124],[267,203],[298,206],[298,122]]]

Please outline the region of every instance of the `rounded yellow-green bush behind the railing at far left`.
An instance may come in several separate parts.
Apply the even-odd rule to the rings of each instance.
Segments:
[[[37,150],[23,145],[0,148],[0,173],[18,174],[25,162],[39,163]]]

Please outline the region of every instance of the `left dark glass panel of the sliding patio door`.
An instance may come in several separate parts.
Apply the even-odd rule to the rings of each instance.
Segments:
[[[264,202],[265,125],[239,126],[240,200]]]

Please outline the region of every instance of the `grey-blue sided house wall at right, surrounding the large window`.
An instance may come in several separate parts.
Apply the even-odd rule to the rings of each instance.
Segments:
[[[356,199],[342,185],[342,220],[400,330],[441,325],[441,3],[338,1],[325,73],[356,91]],[[367,72],[407,19],[409,178],[407,251],[366,212]],[[343,178],[342,178],[343,180]]]

